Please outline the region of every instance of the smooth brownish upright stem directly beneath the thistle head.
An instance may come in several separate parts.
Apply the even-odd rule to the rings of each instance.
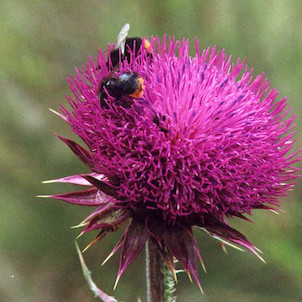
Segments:
[[[163,260],[151,240],[146,244],[146,271],[147,301],[165,302]]]

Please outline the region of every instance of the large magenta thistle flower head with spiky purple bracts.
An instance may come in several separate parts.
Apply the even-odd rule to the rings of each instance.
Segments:
[[[245,60],[231,63],[215,47],[200,53],[198,41],[190,57],[188,41],[164,37],[151,40],[151,57],[141,47],[114,71],[138,73],[143,96],[107,94],[103,108],[98,96],[112,72],[111,49],[76,70],[72,109],[61,106],[59,114],[86,149],[59,138],[92,173],[54,182],[89,188],[51,197],[97,206],[80,224],[82,233],[99,229],[92,243],[128,224],[110,254],[121,248],[117,279],[151,239],[172,272],[176,257],[199,285],[193,226],[258,255],[226,218],[276,209],[294,185],[300,155],[288,155],[295,117],[287,116],[286,99],[276,101],[278,92],[264,74],[253,77]]]

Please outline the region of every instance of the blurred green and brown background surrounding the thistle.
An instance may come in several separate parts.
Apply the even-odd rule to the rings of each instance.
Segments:
[[[247,57],[255,74],[266,72],[298,117],[297,148],[302,145],[301,15],[300,0],[2,0],[0,301],[96,301],[75,252],[78,230],[70,229],[90,209],[35,197],[73,189],[42,180],[88,172],[49,131],[75,139],[48,111],[65,102],[66,77],[75,66],[115,41],[126,22],[131,36],[167,33],[191,41],[196,36],[201,47],[216,44],[234,58]],[[266,265],[248,252],[228,248],[226,255],[217,242],[196,232],[208,270],[200,270],[205,295],[182,274],[178,301],[302,301],[301,184],[298,180],[283,200],[284,213],[255,212],[255,224],[232,221],[264,252]],[[108,236],[85,253],[95,281],[109,293],[119,257],[100,264],[120,235]],[[125,302],[145,301],[144,276],[142,254],[114,295]]]

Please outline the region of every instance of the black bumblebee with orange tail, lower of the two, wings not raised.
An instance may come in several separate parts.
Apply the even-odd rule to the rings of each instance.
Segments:
[[[127,102],[127,96],[141,98],[144,87],[144,80],[137,72],[124,72],[118,77],[104,78],[98,93],[101,107],[109,108],[105,100],[108,94],[116,99],[120,105],[128,107],[130,103]]]

